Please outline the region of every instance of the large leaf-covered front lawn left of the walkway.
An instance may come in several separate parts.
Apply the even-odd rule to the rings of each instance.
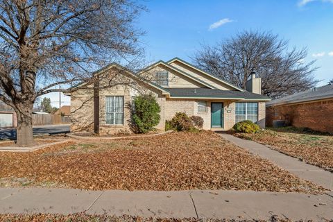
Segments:
[[[5,181],[2,185],[24,178],[25,186],[94,190],[322,189],[212,132],[80,142],[33,153],[0,153],[0,166],[0,179]]]

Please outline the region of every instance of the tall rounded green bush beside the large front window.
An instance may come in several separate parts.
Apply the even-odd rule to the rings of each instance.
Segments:
[[[160,105],[153,95],[137,96],[133,101],[133,130],[148,133],[160,122]]]

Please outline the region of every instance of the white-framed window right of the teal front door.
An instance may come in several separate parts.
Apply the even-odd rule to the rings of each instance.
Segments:
[[[236,123],[250,120],[253,123],[258,121],[258,103],[236,103]]]

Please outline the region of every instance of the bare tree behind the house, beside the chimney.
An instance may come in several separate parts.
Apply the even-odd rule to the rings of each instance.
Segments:
[[[316,85],[312,73],[315,61],[305,63],[307,50],[288,51],[288,42],[278,35],[244,31],[214,46],[202,45],[194,63],[243,89],[250,73],[262,78],[262,94],[278,98]]]

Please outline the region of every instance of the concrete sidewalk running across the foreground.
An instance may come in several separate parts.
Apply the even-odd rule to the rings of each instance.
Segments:
[[[330,195],[333,195],[331,193]],[[0,188],[0,214],[123,214],[162,218],[333,219],[333,197],[256,191],[83,191]]]

